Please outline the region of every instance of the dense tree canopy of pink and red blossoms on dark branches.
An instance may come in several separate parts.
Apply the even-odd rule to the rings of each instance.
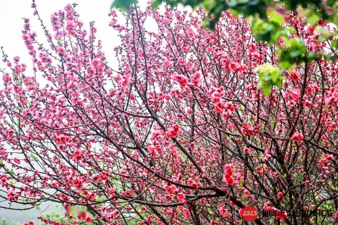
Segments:
[[[67,223],[238,224],[246,205],[327,208],[333,217],[322,224],[337,219],[336,61],[305,60],[266,96],[255,68],[277,68],[285,39],[256,41],[229,12],[209,31],[202,9],[132,6],[125,24],[110,13],[121,38],[114,70],[94,23],[86,31],[75,6],[51,16],[52,31],[42,24],[48,46],[25,19],[33,71],[3,52],[2,198],[25,208],[63,203]],[[304,39],[309,52],[337,54],[317,32],[333,31],[330,24],[315,29],[288,17],[289,38]],[[146,20],[156,22],[155,32]],[[300,220],[259,215],[254,222]]]

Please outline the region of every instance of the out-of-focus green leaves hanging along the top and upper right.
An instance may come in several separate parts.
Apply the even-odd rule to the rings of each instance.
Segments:
[[[310,63],[320,58],[326,60],[337,58],[337,29],[330,32],[322,26],[317,26],[324,20],[337,27],[337,0],[153,0],[152,7],[157,8],[163,2],[171,6],[189,5],[193,9],[204,7],[208,15],[204,26],[211,30],[216,28],[222,13],[229,10],[233,16],[241,16],[248,21],[258,41],[274,45],[281,37],[285,37],[286,40],[277,50],[280,57],[279,67],[272,69],[272,65],[266,65],[265,68],[262,66],[256,68],[265,95],[271,93],[272,86],[282,86],[283,69],[290,71],[295,65]],[[115,0],[111,7],[128,10],[131,4],[137,4],[137,0]],[[308,52],[302,38],[287,39],[295,32],[293,27],[283,26],[288,22],[289,15],[306,17],[309,25],[315,27],[316,32],[320,33],[318,41],[329,41],[332,52],[330,54]]]

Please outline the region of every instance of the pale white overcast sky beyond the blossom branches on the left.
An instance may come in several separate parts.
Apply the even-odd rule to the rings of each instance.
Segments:
[[[76,11],[80,15],[80,20],[84,22],[86,27],[88,27],[90,21],[95,21],[95,27],[97,28],[96,37],[102,41],[102,48],[109,64],[116,66],[113,48],[119,45],[120,40],[114,29],[108,26],[110,21],[108,12],[110,11],[112,1],[113,0],[36,0],[35,3],[37,4],[41,19],[49,30],[51,30],[50,15],[54,11],[64,9],[68,3],[78,3]],[[43,40],[45,43],[46,39],[43,35],[40,22],[36,16],[33,16],[33,9],[30,7],[31,3],[30,0],[0,0],[0,46],[4,47],[5,53],[10,57],[11,61],[13,61],[14,56],[19,56],[20,62],[26,63],[28,68],[32,68],[32,61],[22,40],[22,18],[26,17],[30,19],[31,29],[37,32],[39,40]],[[139,4],[141,8],[144,8],[146,0],[140,0]],[[0,67],[5,67],[2,60]],[[8,69],[6,69],[6,71],[8,72]],[[26,74],[28,75],[30,72],[31,70],[27,70]],[[2,79],[0,83],[2,83]],[[0,205],[8,207],[8,202],[0,202]],[[29,216],[36,218],[47,206],[49,207],[45,212],[55,210],[53,205],[54,203],[45,203],[42,205],[41,210],[30,209],[26,211],[0,208],[0,219],[5,217],[7,225],[13,220],[20,223],[28,222],[30,221]],[[18,205],[15,206],[20,207]],[[33,221],[38,222],[36,219]],[[37,224],[39,224],[39,222]]]

